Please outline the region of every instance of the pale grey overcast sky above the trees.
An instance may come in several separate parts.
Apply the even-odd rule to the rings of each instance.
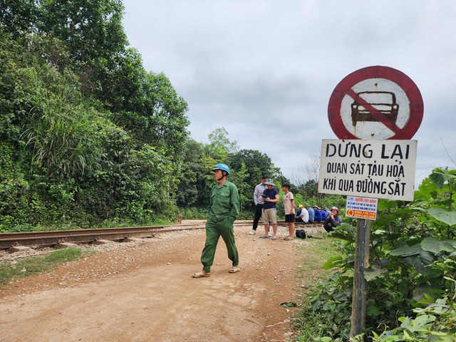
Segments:
[[[456,1],[126,0],[124,27],[147,71],[188,103],[191,137],[224,127],[284,176],[337,139],[328,101],[348,74],[388,66],[424,102],[415,184],[456,167]]]

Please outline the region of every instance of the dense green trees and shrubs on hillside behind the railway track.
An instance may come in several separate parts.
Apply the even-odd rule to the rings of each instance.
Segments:
[[[185,100],[128,47],[121,1],[0,9],[0,231],[205,217],[218,162],[251,218],[261,175],[286,180],[224,128],[190,138]]]

